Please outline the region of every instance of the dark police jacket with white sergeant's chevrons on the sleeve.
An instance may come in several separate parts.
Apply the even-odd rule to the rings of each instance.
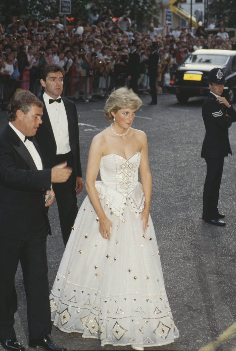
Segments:
[[[229,153],[232,155],[228,128],[236,121],[234,108],[219,104],[216,96],[210,92],[203,102],[202,117],[206,132],[201,157],[206,159],[225,157]]]

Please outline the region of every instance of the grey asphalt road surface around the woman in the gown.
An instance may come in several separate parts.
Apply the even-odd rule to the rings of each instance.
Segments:
[[[145,350],[236,351],[236,124],[230,128],[233,156],[225,159],[219,200],[227,226],[216,227],[201,219],[206,171],[205,161],[200,158],[205,132],[201,116],[203,99],[192,98],[187,105],[180,105],[174,95],[162,94],[158,95],[158,105],[150,106],[149,96],[141,98],[143,106],[136,113],[133,127],[144,130],[148,138],[153,180],[151,216],[165,287],[180,334],[173,344]],[[77,105],[84,179],[91,140],[109,125],[103,116],[104,102]],[[3,111],[0,128],[5,124]],[[85,196],[84,189],[78,196],[78,205]],[[53,235],[48,238],[47,251],[52,286],[64,251],[56,203],[51,206],[49,217]],[[20,267],[16,285],[19,306],[15,330],[27,350],[26,302]],[[130,346],[101,347],[98,340],[83,339],[77,333],[66,334],[55,327],[52,338],[69,351],[131,350]]]

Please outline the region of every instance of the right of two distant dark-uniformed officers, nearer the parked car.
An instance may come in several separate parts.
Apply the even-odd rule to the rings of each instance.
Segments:
[[[150,93],[152,100],[148,103],[149,105],[157,105],[157,76],[158,76],[158,43],[152,41],[151,53],[147,59],[147,73],[149,76]]]

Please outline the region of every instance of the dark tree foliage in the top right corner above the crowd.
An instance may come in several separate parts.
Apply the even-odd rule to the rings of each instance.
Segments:
[[[235,0],[211,0],[208,10],[208,18],[215,18],[217,22],[222,18],[226,27],[236,28]]]

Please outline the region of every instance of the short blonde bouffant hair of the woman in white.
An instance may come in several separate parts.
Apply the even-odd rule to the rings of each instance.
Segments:
[[[112,122],[113,117],[111,112],[117,113],[122,108],[134,108],[138,110],[141,105],[142,100],[132,89],[128,89],[127,87],[118,88],[106,100],[104,115],[109,122]]]

